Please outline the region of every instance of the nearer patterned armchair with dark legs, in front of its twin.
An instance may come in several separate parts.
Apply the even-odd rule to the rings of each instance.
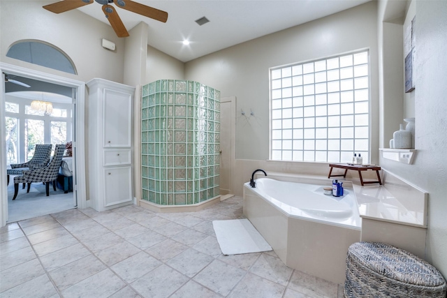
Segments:
[[[61,166],[62,156],[64,156],[65,144],[57,144],[54,147],[54,155],[50,163],[46,167],[41,167],[36,170],[22,170],[22,175],[14,177],[14,198],[17,197],[20,183],[33,182],[45,183],[45,191],[47,196],[50,195],[50,182],[53,182],[53,189],[56,191],[56,179],[59,174],[59,167]]]

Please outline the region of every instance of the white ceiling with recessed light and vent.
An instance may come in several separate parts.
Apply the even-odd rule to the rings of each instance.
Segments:
[[[147,23],[148,45],[186,62],[368,1],[371,0],[135,0],[166,11],[166,23],[121,8],[117,8],[117,13],[128,31],[140,22]],[[78,9],[109,24],[101,4]],[[194,22],[204,16],[210,22],[203,26]],[[184,39],[190,44],[183,45]]]

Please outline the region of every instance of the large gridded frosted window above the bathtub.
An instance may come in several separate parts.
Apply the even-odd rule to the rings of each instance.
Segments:
[[[369,51],[270,69],[270,158],[369,161]]]

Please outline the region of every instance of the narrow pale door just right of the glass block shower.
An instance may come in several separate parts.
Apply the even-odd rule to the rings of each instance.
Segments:
[[[229,198],[234,193],[233,170],[236,163],[236,97],[221,98],[221,167],[220,194]]]

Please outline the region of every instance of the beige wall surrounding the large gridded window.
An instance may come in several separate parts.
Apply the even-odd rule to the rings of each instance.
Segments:
[[[272,33],[186,63],[185,77],[237,97],[236,158],[269,158],[269,68],[369,48],[372,162],[378,161],[376,2]],[[240,111],[244,110],[246,116]],[[248,117],[250,111],[254,116]]]

